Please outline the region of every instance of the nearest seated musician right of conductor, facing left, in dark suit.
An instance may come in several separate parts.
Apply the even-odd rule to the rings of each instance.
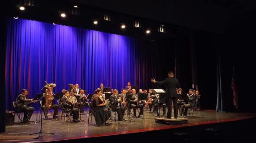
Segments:
[[[196,106],[196,95],[193,93],[193,89],[188,90],[188,104],[184,104],[181,106],[181,112],[179,113],[179,116],[182,116],[182,113],[184,111],[184,116],[187,116],[187,110],[188,108],[195,107]]]

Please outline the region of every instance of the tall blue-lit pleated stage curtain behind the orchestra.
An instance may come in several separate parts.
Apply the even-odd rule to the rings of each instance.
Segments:
[[[160,72],[159,50],[134,37],[9,18],[6,39],[7,110],[23,88],[29,98],[41,93],[44,81],[56,84],[55,93],[69,83],[88,93],[100,83],[120,92],[127,82],[147,88]]]

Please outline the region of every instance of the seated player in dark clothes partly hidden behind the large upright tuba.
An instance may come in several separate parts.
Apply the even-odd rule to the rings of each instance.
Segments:
[[[45,89],[45,92],[47,93],[47,89]],[[43,98],[42,98],[42,110],[43,110],[43,114],[44,114],[44,120],[48,119],[48,116],[47,116],[47,107],[45,106],[45,92],[43,93]],[[53,99],[54,97],[51,98],[51,102],[52,102],[52,106],[50,107],[51,109],[54,110],[54,113],[53,113],[53,119],[56,119],[58,116],[58,107],[59,105],[55,105],[53,104]]]

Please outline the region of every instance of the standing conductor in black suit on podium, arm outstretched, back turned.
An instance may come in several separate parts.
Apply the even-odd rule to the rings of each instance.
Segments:
[[[173,72],[168,72],[168,77],[162,82],[156,82],[155,78],[151,79],[151,82],[162,84],[166,86],[166,106],[168,108],[167,118],[171,118],[171,103],[174,105],[174,118],[178,118],[178,105],[177,105],[177,88],[179,88],[179,82],[176,78],[174,78]]]

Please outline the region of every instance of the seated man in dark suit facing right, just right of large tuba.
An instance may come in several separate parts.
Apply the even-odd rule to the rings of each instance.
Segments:
[[[78,109],[74,108],[72,103],[69,102],[69,96],[69,91],[66,90],[63,97],[61,98],[61,103],[66,111],[71,111],[71,113],[73,114],[73,122],[80,122]]]

